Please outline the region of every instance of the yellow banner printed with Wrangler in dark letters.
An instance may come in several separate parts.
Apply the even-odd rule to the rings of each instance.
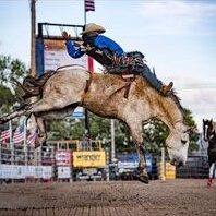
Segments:
[[[73,166],[74,167],[105,167],[106,157],[105,152],[73,152]]]

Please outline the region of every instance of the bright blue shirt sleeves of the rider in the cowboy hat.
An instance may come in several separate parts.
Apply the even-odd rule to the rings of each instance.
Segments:
[[[65,45],[67,45],[68,53],[74,59],[80,58],[85,53],[84,51],[81,50],[81,48],[76,48],[72,40],[67,40]],[[110,38],[104,35],[98,35],[95,38],[94,47],[100,50],[108,49],[112,52],[112,55],[117,57],[122,57],[124,55],[123,49],[116,41],[111,40]]]

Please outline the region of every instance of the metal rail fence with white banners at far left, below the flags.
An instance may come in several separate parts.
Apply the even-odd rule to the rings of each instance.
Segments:
[[[0,145],[0,181],[48,180],[55,176],[52,146]]]

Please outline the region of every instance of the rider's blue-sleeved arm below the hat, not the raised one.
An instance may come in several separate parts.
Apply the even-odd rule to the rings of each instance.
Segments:
[[[123,49],[113,40],[110,38],[104,36],[104,35],[98,35],[95,39],[95,46],[98,47],[99,49],[109,49],[113,55],[117,57],[122,57],[124,56]]]

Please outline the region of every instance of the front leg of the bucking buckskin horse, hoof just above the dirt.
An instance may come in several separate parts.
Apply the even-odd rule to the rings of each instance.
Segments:
[[[146,171],[145,151],[143,146],[143,135],[142,135],[143,134],[142,123],[132,122],[131,124],[128,125],[130,128],[131,135],[133,137],[137,154],[140,156],[139,179],[144,183],[148,183],[149,178]]]

